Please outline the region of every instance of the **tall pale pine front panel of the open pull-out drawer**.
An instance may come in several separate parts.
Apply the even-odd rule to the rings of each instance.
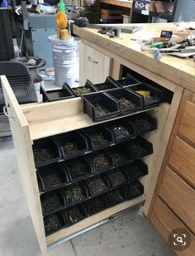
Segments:
[[[12,130],[14,147],[17,152],[18,168],[21,175],[23,190],[31,213],[31,219],[36,229],[37,239],[40,244],[42,255],[47,255],[45,229],[42,220],[39,189],[36,180],[36,168],[31,147],[31,137],[28,123],[17,102],[7,78],[2,75],[2,90],[7,104],[8,114]]]

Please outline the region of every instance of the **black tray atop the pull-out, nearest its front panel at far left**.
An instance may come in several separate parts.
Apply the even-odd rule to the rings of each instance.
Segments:
[[[42,86],[40,86],[40,94],[42,94],[43,96],[43,102],[50,102],[60,99],[70,99],[75,97],[67,84],[63,85],[62,89],[52,90],[45,90]]]

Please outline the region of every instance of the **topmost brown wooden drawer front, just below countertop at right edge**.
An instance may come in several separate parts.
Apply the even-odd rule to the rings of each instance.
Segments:
[[[178,133],[195,142],[195,104],[187,101]]]

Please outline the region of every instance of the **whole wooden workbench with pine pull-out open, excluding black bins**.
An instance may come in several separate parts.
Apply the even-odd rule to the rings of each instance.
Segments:
[[[148,31],[154,33],[154,36],[159,36],[162,29],[176,28],[174,24],[139,24],[139,26],[143,29],[136,32],[136,36],[143,36]],[[144,194],[88,216],[53,234],[45,235],[32,145],[36,139],[93,127],[97,123],[83,113],[83,99],[80,97],[20,106],[6,78],[2,77],[2,88],[17,150],[22,186],[42,254],[47,255],[48,248],[112,220],[121,212],[139,206],[167,241],[173,229],[182,227],[184,232],[191,234],[191,245],[185,251],[178,252],[178,255],[193,256],[195,254],[193,60],[163,56],[161,61],[157,62],[151,53],[140,51],[140,44],[132,41],[132,35],[127,33],[121,33],[121,38],[110,39],[100,35],[97,29],[74,27],[74,34],[81,38],[80,85],[84,85],[87,79],[94,84],[101,83],[107,75],[118,80],[121,79],[123,71],[128,69],[129,72],[134,72],[134,75],[141,75],[154,86],[161,85],[169,89],[172,97],[153,109],[144,110],[158,123],[155,131],[144,134],[144,138],[153,144],[153,154],[141,159],[149,171],[148,175],[140,178],[144,186]],[[129,228],[131,229],[131,226]]]

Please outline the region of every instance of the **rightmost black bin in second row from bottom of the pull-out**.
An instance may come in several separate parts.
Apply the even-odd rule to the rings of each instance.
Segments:
[[[137,160],[122,167],[129,176],[129,181],[135,181],[148,174],[148,167],[145,162]]]

